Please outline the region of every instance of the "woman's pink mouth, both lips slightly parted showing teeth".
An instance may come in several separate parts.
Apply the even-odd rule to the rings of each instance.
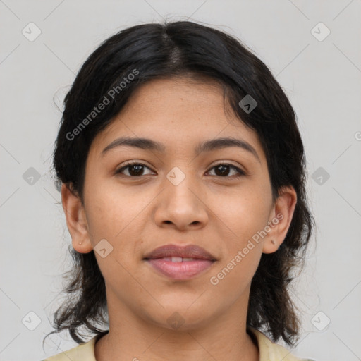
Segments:
[[[197,245],[164,245],[148,253],[144,260],[155,271],[175,280],[199,276],[216,262],[213,255]]]

